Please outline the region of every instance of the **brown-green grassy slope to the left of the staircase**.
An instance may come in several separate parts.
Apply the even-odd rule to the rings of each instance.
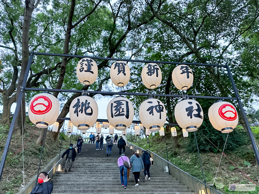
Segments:
[[[38,163],[40,159],[40,154],[42,146],[36,144],[36,140],[40,135],[41,129],[36,128],[30,124],[25,127],[26,133],[24,134],[24,168],[25,168],[25,184],[30,181],[30,179],[38,172]],[[2,154],[6,142],[6,138],[9,132],[7,126],[0,125],[0,159],[2,159]],[[46,143],[49,146],[49,150],[44,147],[44,152],[42,155],[41,169],[51,161],[57,153],[60,151],[61,139],[56,143],[53,138],[49,137],[50,131],[47,132]],[[66,139],[62,141],[62,150],[68,148],[70,139],[65,136]],[[75,143],[75,141],[71,141]],[[23,183],[23,153],[22,153],[22,138],[21,135],[13,135],[11,145],[9,148],[9,153],[7,156],[4,173],[2,180],[0,182],[0,193],[12,194],[19,191],[21,184]],[[19,150],[19,151],[18,151]],[[18,152],[17,152],[18,151]],[[17,154],[15,154],[17,152]],[[14,155],[15,154],[15,155]],[[9,182],[10,181],[10,182]]]

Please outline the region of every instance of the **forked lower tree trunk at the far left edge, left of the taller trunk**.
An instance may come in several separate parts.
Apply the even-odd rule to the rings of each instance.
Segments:
[[[0,120],[1,124],[7,125],[10,123],[11,106],[15,101],[15,95],[9,98],[8,94],[5,94],[5,92],[3,92],[3,115]]]

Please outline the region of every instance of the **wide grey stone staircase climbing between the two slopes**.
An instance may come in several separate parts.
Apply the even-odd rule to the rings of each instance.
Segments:
[[[132,150],[126,147],[125,155],[128,158]],[[54,185],[52,194],[60,193],[143,193],[143,194],[195,194],[187,186],[179,183],[175,178],[164,173],[159,166],[150,168],[150,181],[145,181],[144,173],[140,173],[139,186],[135,185],[134,175],[130,170],[130,178],[127,189],[121,186],[120,172],[117,165],[119,149],[117,145],[112,148],[111,156],[106,156],[106,144],[104,150],[95,150],[95,144],[83,144],[81,155],[76,155],[71,172],[58,172],[52,177]]]

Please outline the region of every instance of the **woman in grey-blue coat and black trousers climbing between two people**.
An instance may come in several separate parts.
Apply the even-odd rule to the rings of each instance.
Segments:
[[[136,184],[135,186],[139,186],[139,175],[141,169],[144,170],[144,163],[140,155],[136,152],[133,152],[133,155],[130,158],[130,163],[132,164],[132,173],[134,174]]]

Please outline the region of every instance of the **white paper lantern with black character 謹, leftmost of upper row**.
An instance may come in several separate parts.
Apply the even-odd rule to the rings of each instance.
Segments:
[[[98,67],[95,61],[90,58],[83,58],[77,63],[76,75],[78,80],[84,85],[95,82],[98,76]]]

